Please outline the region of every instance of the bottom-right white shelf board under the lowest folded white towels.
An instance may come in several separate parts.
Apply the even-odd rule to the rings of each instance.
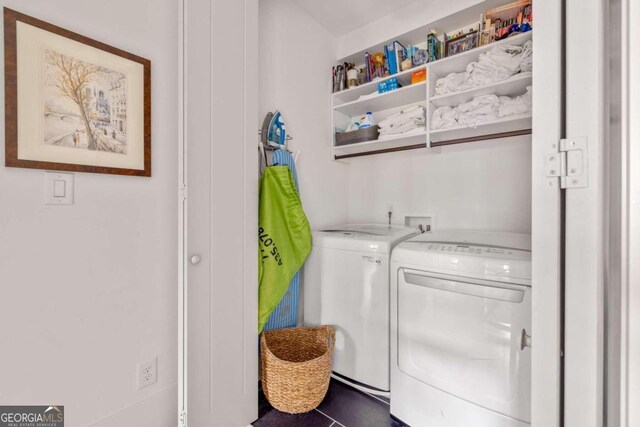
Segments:
[[[531,114],[505,117],[479,124],[475,127],[455,126],[447,129],[436,129],[429,132],[431,146],[444,145],[451,141],[480,138],[487,135],[497,135],[511,132],[525,132],[531,130]],[[440,143],[440,144],[439,144]]]

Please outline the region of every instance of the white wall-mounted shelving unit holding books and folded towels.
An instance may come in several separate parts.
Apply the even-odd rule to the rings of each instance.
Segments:
[[[400,41],[407,45],[423,45],[426,42],[426,36],[431,29],[437,30],[439,34],[451,32],[461,28],[471,28],[477,25],[480,14],[487,9],[501,6],[508,3],[508,0],[484,0],[478,1],[473,6],[454,13],[450,16],[435,17],[431,23],[414,28],[404,34],[399,34],[389,40],[378,40],[373,46],[368,46],[358,52],[339,52],[338,62],[353,62],[360,65],[364,62],[365,52],[375,53],[382,52],[386,44],[394,40]],[[475,49],[459,53],[457,55],[443,58],[415,67],[411,70],[397,73],[393,76],[387,76],[373,82],[365,83],[356,88],[347,89],[332,94],[331,103],[333,111],[332,130],[336,123],[343,124],[345,116],[353,117],[355,115],[364,114],[368,111],[384,112],[378,114],[376,118],[381,120],[392,109],[400,109],[410,104],[423,104],[426,107],[427,121],[431,121],[432,110],[441,106],[457,106],[464,102],[468,102],[473,98],[481,95],[496,94],[497,96],[517,96],[526,93],[527,86],[532,85],[532,76],[530,73],[520,74],[511,77],[508,80],[492,83],[487,86],[476,87],[466,91],[448,93],[440,96],[433,96],[433,89],[438,78],[444,77],[449,73],[463,72],[467,65],[477,61],[480,55],[490,51],[498,46],[521,46],[529,40],[533,40],[533,31],[518,34],[480,46]],[[427,81],[409,85],[411,81],[411,73],[416,70],[426,69]],[[362,95],[368,95],[377,90],[378,83],[390,78],[397,78],[398,82],[403,86],[400,89],[386,92],[379,95],[373,95],[370,98],[358,99]],[[516,135],[525,135],[531,133],[532,120],[531,115],[511,116],[492,122],[482,123],[475,127],[456,126],[448,129],[438,129],[427,131],[424,134],[400,136],[388,140],[375,140],[351,144],[347,146],[333,146],[333,154],[337,159],[352,157],[364,154],[375,154],[378,152],[398,151],[403,149],[437,147],[441,145],[490,140],[504,138]],[[332,138],[333,140],[333,138]]]

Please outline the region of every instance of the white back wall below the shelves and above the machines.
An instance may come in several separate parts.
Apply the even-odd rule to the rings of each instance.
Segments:
[[[531,232],[531,138],[355,158],[349,220],[434,213],[437,229]],[[402,220],[403,221],[403,220]]]

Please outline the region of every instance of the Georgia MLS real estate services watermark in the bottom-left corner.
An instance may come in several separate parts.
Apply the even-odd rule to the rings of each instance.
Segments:
[[[64,427],[64,406],[0,406],[0,427]]]

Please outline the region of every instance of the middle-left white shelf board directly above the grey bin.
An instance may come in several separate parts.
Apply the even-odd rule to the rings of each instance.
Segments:
[[[355,116],[368,111],[382,111],[389,108],[400,107],[427,99],[427,82],[415,83],[400,89],[375,95],[371,98],[357,99],[333,107],[335,111]]]

